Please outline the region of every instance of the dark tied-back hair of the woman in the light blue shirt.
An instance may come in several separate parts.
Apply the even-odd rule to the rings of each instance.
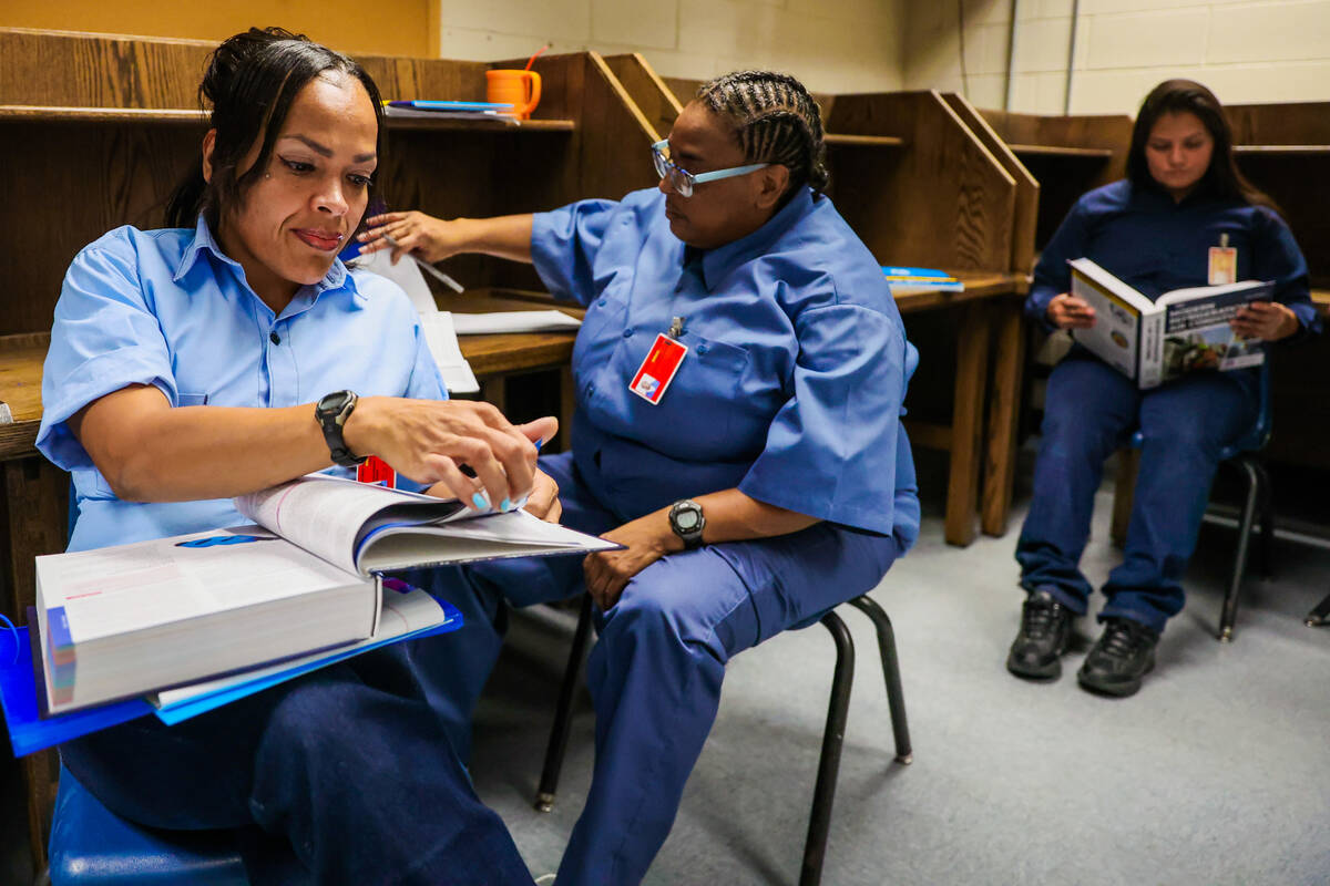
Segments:
[[[383,102],[379,88],[359,62],[285,28],[250,28],[229,37],[207,58],[198,102],[210,109],[207,125],[217,130],[213,177],[205,181],[201,165],[194,162],[166,205],[166,226],[194,227],[202,213],[215,231],[221,210],[237,205],[262,178],[295,96],[326,70],[355,77],[370,94],[378,121],[375,149],[382,155]],[[263,142],[258,158],[237,177],[237,165],[259,134]]]

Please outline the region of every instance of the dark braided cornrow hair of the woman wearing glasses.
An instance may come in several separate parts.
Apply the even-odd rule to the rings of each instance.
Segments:
[[[704,84],[696,100],[734,126],[747,162],[790,170],[786,199],[802,185],[814,197],[826,189],[822,112],[798,80],[774,70],[735,70]]]

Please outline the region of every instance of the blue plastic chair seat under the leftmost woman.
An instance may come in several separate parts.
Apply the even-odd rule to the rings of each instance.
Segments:
[[[69,533],[78,510],[69,487]],[[106,809],[64,765],[47,846],[52,886],[247,886],[234,830],[157,830]]]

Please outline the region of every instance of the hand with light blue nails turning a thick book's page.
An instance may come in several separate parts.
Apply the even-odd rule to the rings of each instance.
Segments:
[[[537,440],[559,430],[553,417],[513,425],[488,402],[362,397],[347,418],[346,445],[358,456],[378,456],[422,484],[443,484],[475,506],[484,491],[497,510],[532,490]],[[460,465],[468,465],[475,478]]]

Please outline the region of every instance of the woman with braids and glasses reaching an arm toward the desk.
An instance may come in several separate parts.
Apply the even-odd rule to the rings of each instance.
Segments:
[[[432,260],[529,260],[588,308],[572,452],[541,468],[565,523],[625,549],[511,566],[525,580],[505,582],[519,604],[585,587],[600,608],[596,770],[559,882],[638,882],[725,663],[875,587],[918,534],[899,422],[914,348],[878,262],[821,194],[822,154],[798,81],[729,74],[653,147],[658,189],[499,219],[390,214],[363,235]],[[676,372],[656,368],[684,348]],[[488,659],[469,668],[483,683]]]

